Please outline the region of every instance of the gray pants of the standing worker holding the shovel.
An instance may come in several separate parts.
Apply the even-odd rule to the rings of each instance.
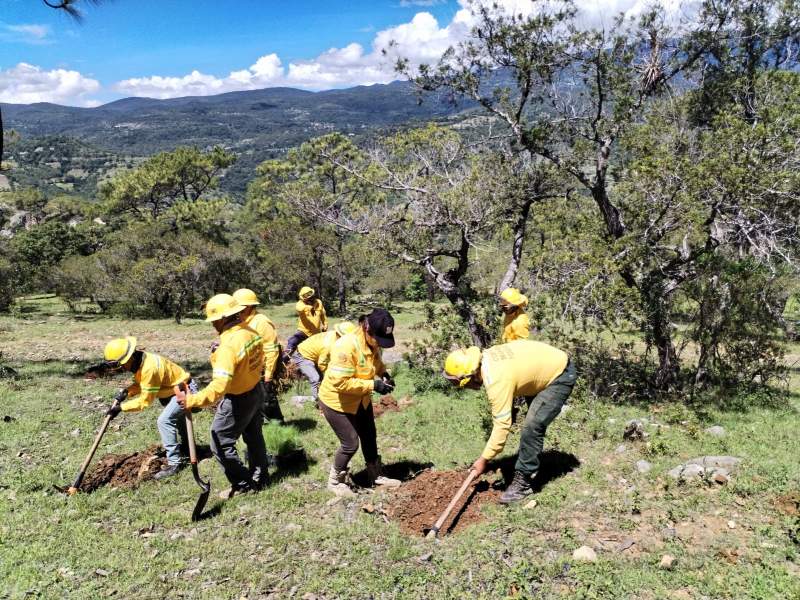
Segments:
[[[260,384],[244,394],[227,395],[217,405],[211,423],[211,452],[236,490],[258,488],[269,477],[267,447],[261,433],[263,404],[264,387]],[[240,436],[247,444],[249,470],[236,452]]]

